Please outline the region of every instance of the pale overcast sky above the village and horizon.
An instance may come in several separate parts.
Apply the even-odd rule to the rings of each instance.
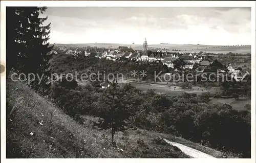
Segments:
[[[250,8],[48,7],[50,43],[251,44]]]

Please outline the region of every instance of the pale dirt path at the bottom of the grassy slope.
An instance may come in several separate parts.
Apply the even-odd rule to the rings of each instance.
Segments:
[[[192,158],[216,158],[214,156],[208,155],[206,153],[203,153],[201,151],[198,151],[196,149],[184,146],[182,144],[179,143],[175,143],[175,142],[170,142],[167,139],[164,138],[164,141],[172,146],[176,146],[178,147],[182,152],[184,152],[185,154],[189,155]]]

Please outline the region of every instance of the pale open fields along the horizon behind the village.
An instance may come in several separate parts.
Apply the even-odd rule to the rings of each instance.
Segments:
[[[80,43],[80,44],[56,44],[56,46],[65,45],[65,46],[97,46],[98,48],[118,48],[118,46],[131,46],[134,50],[142,50],[142,44],[119,44],[119,43]],[[239,46],[225,46],[223,45],[194,45],[194,44],[148,44],[148,49],[156,48],[165,48],[168,50],[178,49],[182,52],[187,53],[198,53],[200,51],[206,53],[238,53],[238,54],[247,54],[251,53],[251,45],[239,45]]]

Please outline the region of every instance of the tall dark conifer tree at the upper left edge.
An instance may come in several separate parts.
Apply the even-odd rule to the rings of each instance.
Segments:
[[[48,88],[50,77],[49,46],[50,25],[44,26],[48,17],[40,17],[46,7],[7,7],[7,70],[18,74],[33,73],[36,80],[30,83],[36,90]],[[39,79],[42,77],[41,82]]]

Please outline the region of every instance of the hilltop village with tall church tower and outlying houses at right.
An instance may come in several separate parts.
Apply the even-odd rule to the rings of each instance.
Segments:
[[[132,62],[148,62],[148,63],[162,63],[169,69],[174,71],[189,70],[197,73],[203,73],[209,69],[212,63],[216,60],[212,53],[186,53],[181,50],[166,50],[164,49],[149,49],[146,39],[143,42],[142,50],[134,50],[128,46],[118,46],[117,48],[98,48],[87,46],[84,48],[67,48],[65,46],[58,46],[51,53],[65,53],[69,55],[84,55],[88,57],[96,57],[99,59],[113,60],[113,61],[132,61]],[[231,53],[232,54],[232,53]],[[215,54],[216,55],[216,54]],[[175,62],[181,60],[180,66],[175,67]],[[218,58],[219,60],[219,58]],[[238,62],[244,63],[244,59],[240,59]],[[224,64],[225,68],[219,68],[220,73],[230,73],[236,81],[241,81],[247,71],[243,68],[239,68],[231,63]]]

